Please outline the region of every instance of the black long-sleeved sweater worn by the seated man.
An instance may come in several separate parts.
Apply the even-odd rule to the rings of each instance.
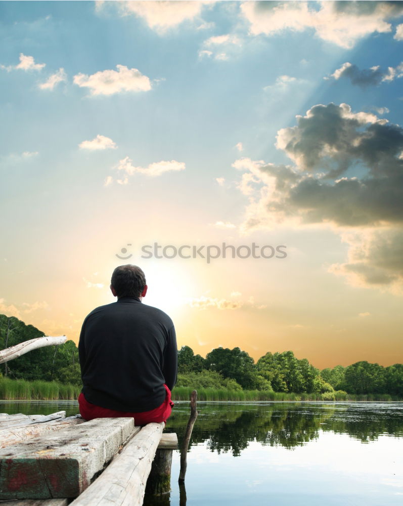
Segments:
[[[141,412],[165,399],[177,375],[175,329],[167,314],[122,297],[85,318],[78,344],[82,393],[97,406]]]

